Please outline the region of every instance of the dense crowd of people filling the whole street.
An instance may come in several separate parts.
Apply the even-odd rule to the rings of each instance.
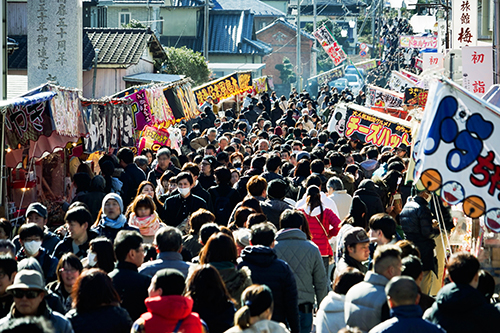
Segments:
[[[358,97],[209,98],[178,150],[76,161],[63,226],[39,202],[0,221],[0,331],[496,331],[493,277],[436,251],[450,209],[405,184],[408,147],[326,130]]]

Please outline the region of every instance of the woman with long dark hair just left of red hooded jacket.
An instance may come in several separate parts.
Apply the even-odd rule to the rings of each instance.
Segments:
[[[128,333],[132,320],[106,272],[84,271],[73,286],[73,310],[66,314],[75,333]]]

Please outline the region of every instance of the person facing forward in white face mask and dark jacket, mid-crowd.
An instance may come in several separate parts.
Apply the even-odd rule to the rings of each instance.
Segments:
[[[207,209],[205,200],[191,194],[193,185],[194,181],[191,173],[183,171],[177,175],[177,190],[179,193],[167,198],[163,204],[165,211],[168,212],[164,221],[167,225],[176,227],[198,209]]]

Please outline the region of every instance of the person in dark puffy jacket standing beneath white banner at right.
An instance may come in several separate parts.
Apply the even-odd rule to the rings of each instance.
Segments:
[[[419,249],[422,259],[424,279],[420,285],[423,293],[428,293],[432,271],[437,273],[437,260],[434,257],[436,243],[434,237],[439,235],[439,229],[433,226],[434,216],[428,207],[426,199],[431,194],[422,191],[408,199],[399,213],[399,222],[407,240],[412,241]]]

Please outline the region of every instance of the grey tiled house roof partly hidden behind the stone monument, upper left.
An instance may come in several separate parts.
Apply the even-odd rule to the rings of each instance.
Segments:
[[[165,59],[166,53],[155,34],[149,29],[84,28],[83,70],[93,65],[94,50],[99,49],[98,65],[128,67],[137,64],[144,49],[153,56]],[[9,56],[9,69],[27,69],[27,36],[10,36],[19,43],[19,49]]]

